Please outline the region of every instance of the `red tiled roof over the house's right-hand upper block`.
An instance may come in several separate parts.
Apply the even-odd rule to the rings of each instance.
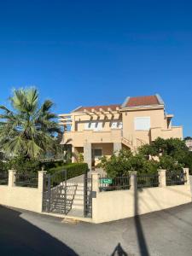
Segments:
[[[130,97],[125,107],[142,107],[142,106],[151,106],[151,105],[160,105],[157,96],[137,96]]]

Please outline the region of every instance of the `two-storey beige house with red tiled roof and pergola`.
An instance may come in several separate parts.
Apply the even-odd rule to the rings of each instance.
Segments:
[[[64,126],[61,143],[72,145],[74,155],[95,166],[102,155],[110,156],[120,148],[136,150],[157,137],[183,139],[182,126],[172,126],[159,95],[127,97],[122,104],[79,107],[60,114]],[[73,157],[73,161],[77,158]]]

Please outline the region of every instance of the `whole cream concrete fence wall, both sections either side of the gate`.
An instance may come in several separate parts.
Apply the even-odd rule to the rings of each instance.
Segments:
[[[187,183],[166,186],[166,170],[159,171],[159,187],[137,189],[137,172],[131,172],[131,189],[99,191],[99,175],[92,174],[92,222],[102,223],[160,211],[191,202],[189,169],[184,169]],[[15,171],[9,171],[9,184],[0,185],[0,204],[32,212],[42,212],[44,171],[38,172],[38,188],[15,186]]]

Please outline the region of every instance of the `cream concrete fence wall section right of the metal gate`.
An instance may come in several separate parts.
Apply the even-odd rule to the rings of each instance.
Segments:
[[[137,189],[137,173],[131,173],[131,189],[99,192],[99,176],[93,174],[93,190],[96,198],[92,202],[94,223],[129,218],[143,213],[160,211],[191,202],[189,170],[187,183],[166,186],[166,170],[159,172],[159,187]]]

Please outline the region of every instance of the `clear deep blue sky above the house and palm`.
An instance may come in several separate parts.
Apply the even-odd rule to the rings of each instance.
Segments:
[[[30,85],[56,113],[159,93],[192,136],[192,2],[1,1],[0,103]]]

